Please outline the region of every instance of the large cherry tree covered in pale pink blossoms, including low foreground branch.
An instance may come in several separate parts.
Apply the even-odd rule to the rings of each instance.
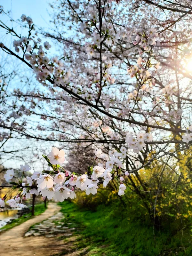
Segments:
[[[33,125],[26,122],[20,129],[4,121],[0,127],[29,139],[67,143],[74,155],[80,147],[84,154],[96,148],[95,161],[105,160],[105,166],[94,166],[94,161],[79,175],[61,166],[64,152],[53,147],[43,155],[50,170],[34,172],[27,183],[22,179],[11,182],[11,189],[19,188],[8,202],[11,206],[22,206],[21,197],[30,193],[60,202],[74,198],[74,188],[95,194],[98,185],[106,187],[112,179],[119,183],[118,195],[123,196],[126,177],[137,189],[132,173],[147,191],[139,171],[154,161],[176,168],[180,154],[190,147],[192,76],[186,49],[191,50],[188,34],[192,27],[187,19],[191,16],[188,1],[186,5],[116,2],[56,1],[60,8],[55,9],[55,32],[43,34],[62,47],[60,57],[50,56],[52,45],[49,39],[41,42],[31,17],[21,16],[28,28],[23,36],[1,22],[1,28],[15,37],[14,49],[1,42],[1,50],[31,69],[42,86],[25,94],[20,89],[14,92],[31,103],[17,108],[28,120],[36,118]],[[23,173],[25,168],[28,165],[21,167]],[[158,173],[160,180],[163,170]],[[180,173],[176,175],[179,180]],[[8,170],[5,178],[13,177],[14,171]],[[5,199],[6,195],[2,206]]]

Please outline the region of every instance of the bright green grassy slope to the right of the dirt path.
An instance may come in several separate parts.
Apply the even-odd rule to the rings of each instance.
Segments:
[[[59,203],[66,216],[62,221],[76,227],[74,248],[86,248],[89,256],[191,256],[191,227],[175,231],[167,225],[163,231],[140,213],[120,205],[100,205],[97,211],[82,210],[74,203]],[[173,223],[174,225],[174,223]],[[169,226],[169,227],[168,227]],[[174,230],[174,231],[173,231]],[[60,254],[60,255],[65,255]],[[79,254],[81,255],[81,254]]]

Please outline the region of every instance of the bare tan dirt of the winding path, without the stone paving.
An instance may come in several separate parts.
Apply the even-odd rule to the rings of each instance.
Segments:
[[[0,256],[50,256],[60,253],[64,249],[64,244],[59,239],[44,236],[23,237],[30,226],[48,219],[59,210],[60,207],[57,204],[49,203],[44,213],[2,233],[0,235]]]

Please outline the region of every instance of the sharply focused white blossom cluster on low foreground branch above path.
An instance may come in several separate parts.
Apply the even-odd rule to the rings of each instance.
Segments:
[[[97,193],[99,183],[103,182],[103,187],[105,188],[108,182],[112,180],[112,177],[116,176],[114,167],[122,166],[120,159],[124,157],[125,152],[126,149],[124,147],[121,147],[120,152],[110,152],[110,161],[106,163],[107,169],[103,167],[103,164],[98,163],[94,167],[93,165],[89,167],[87,173],[79,175],[75,172],[71,173],[60,166],[65,161],[65,152],[52,147],[52,151],[47,156],[43,155],[44,159],[48,162],[49,167],[47,170],[33,172],[31,177],[26,177],[25,182],[23,181],[24,173],[31,170],[28,164],[20,165],[22,172],[21,180],[15,176],[13,169],[7,170],[6,174],[4,174],[5,180],[13,185],[12,189],[17,188],[19,190],[17,195],[7,200],[6,203],[13,208],[26,207],[22,202],[25,199],[29,199],[31,194],[42,195],[44,198],[47,197],[47,199],[53,199],[56,202],[63,202],[67,198],[76,198],[75,189],[85,191],[86,195],[94,195]],[[106,157],[101,149],[95,149],[95,156],[95,161],[98,158]],[[112,168],[108,168],[108,166]],[[129,173],[127,172],[125,175],[128,176]],[[18,182],[12,182],[13,178],[16,178]],[[124,178],[123,176],[115,178],[120,183],[118,195],[122,196],[126,189],[126,186],[122,183]],[[8,194],[0,199],[1,207],[5,206],[7,196]]]

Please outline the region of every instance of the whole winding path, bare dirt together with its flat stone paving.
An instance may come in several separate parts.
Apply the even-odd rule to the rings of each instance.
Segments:
[[[57,204],[34,218],[0,234],[0,256],[82,256],[87,247],[78,246],[79,225],[70,223]]]

